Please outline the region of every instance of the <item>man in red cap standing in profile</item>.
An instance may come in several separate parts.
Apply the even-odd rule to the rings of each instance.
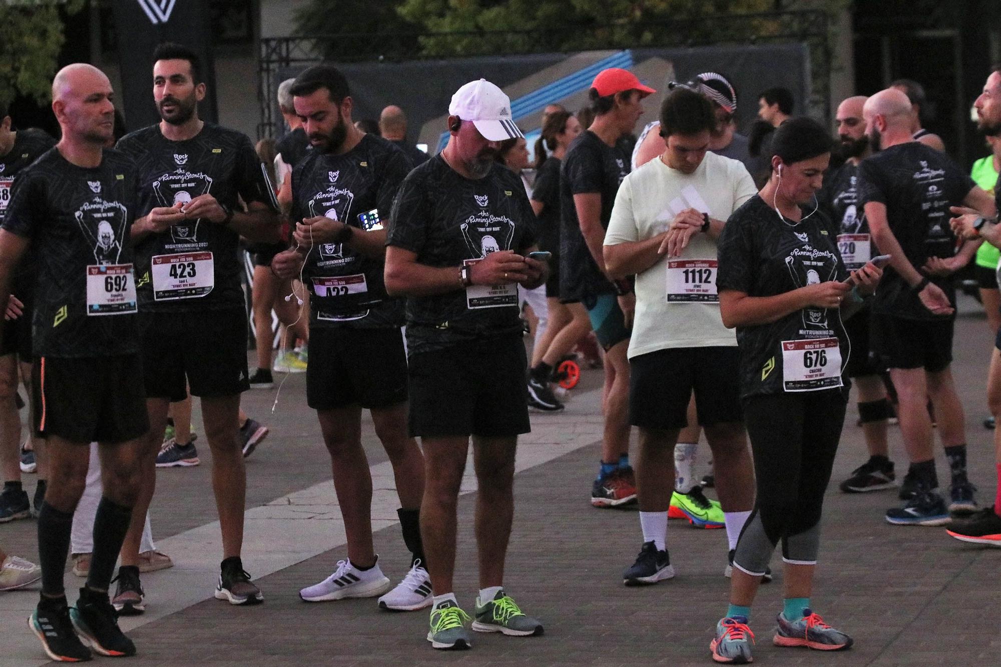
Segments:
[[[636,297],[632,280],[613,281],[605,267],[605,230],[612,205],[630,171],[629,156],[616,148],[643,115],[643,98],[657,92],[624,69],[603,70],[590,91],[595,121],[574,140],[560,176],[563,234],[560,297],[584,303],[598,342],[605,348],[602,461],[591,494],[595,507],[636,501],[629,464],[629,361],[626,349]]]

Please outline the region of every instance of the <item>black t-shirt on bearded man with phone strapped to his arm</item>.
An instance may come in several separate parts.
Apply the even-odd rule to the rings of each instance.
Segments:
[[[403,151],[370,134],[342,155],[312,150],[292,169],[291,219],[326,216],[355,228],[355,234],[365,233],[359,216],[384,227],[409,171]],[[312,247],[303,268],[312,287],[310,326],[401,326],[403,304],[386,296],[384,266],[382,259],[366,257],[346,243]]]

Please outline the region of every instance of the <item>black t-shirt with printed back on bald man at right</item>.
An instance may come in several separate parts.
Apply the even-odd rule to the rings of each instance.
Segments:
[[[867,202],[886,205],[890,231],[919,271],[930,257],[952,257],[956,237],[949,227],[950,206],[960,205],[976,187],[973,179],[945,153],[917,141],[886,148],[859,164],[859,208]],[[949,276],[929,276],[956,303]],[[873,312],[904,319],[943,320],[933,315],[893,267],[883,270],[873,298]]]

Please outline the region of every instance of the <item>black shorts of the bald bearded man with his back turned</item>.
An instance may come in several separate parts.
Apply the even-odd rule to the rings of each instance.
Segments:
[[[938,373],[952,363],[955,320],[908,320],[874,315],[872,346],[886,368],[924,368]]]

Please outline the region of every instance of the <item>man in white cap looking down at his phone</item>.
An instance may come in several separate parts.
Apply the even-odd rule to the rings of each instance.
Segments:
[[[521,179],[494,162],[521,137],[511,100],[480,79],[448,106],[448,144],[406,177],[386,240],[385,287],[405,295],[411,436],[420,436],[426,480],[420,533],[434,592],[427,640],[468,648],[470,620],[452,592],[456,503],[472,436],[476,471],[479,596],[472,629],[543,633],[503,587],[514,516],[518,436],[528,433],[527,362],[518,286],[546,282],[536,216]]]

